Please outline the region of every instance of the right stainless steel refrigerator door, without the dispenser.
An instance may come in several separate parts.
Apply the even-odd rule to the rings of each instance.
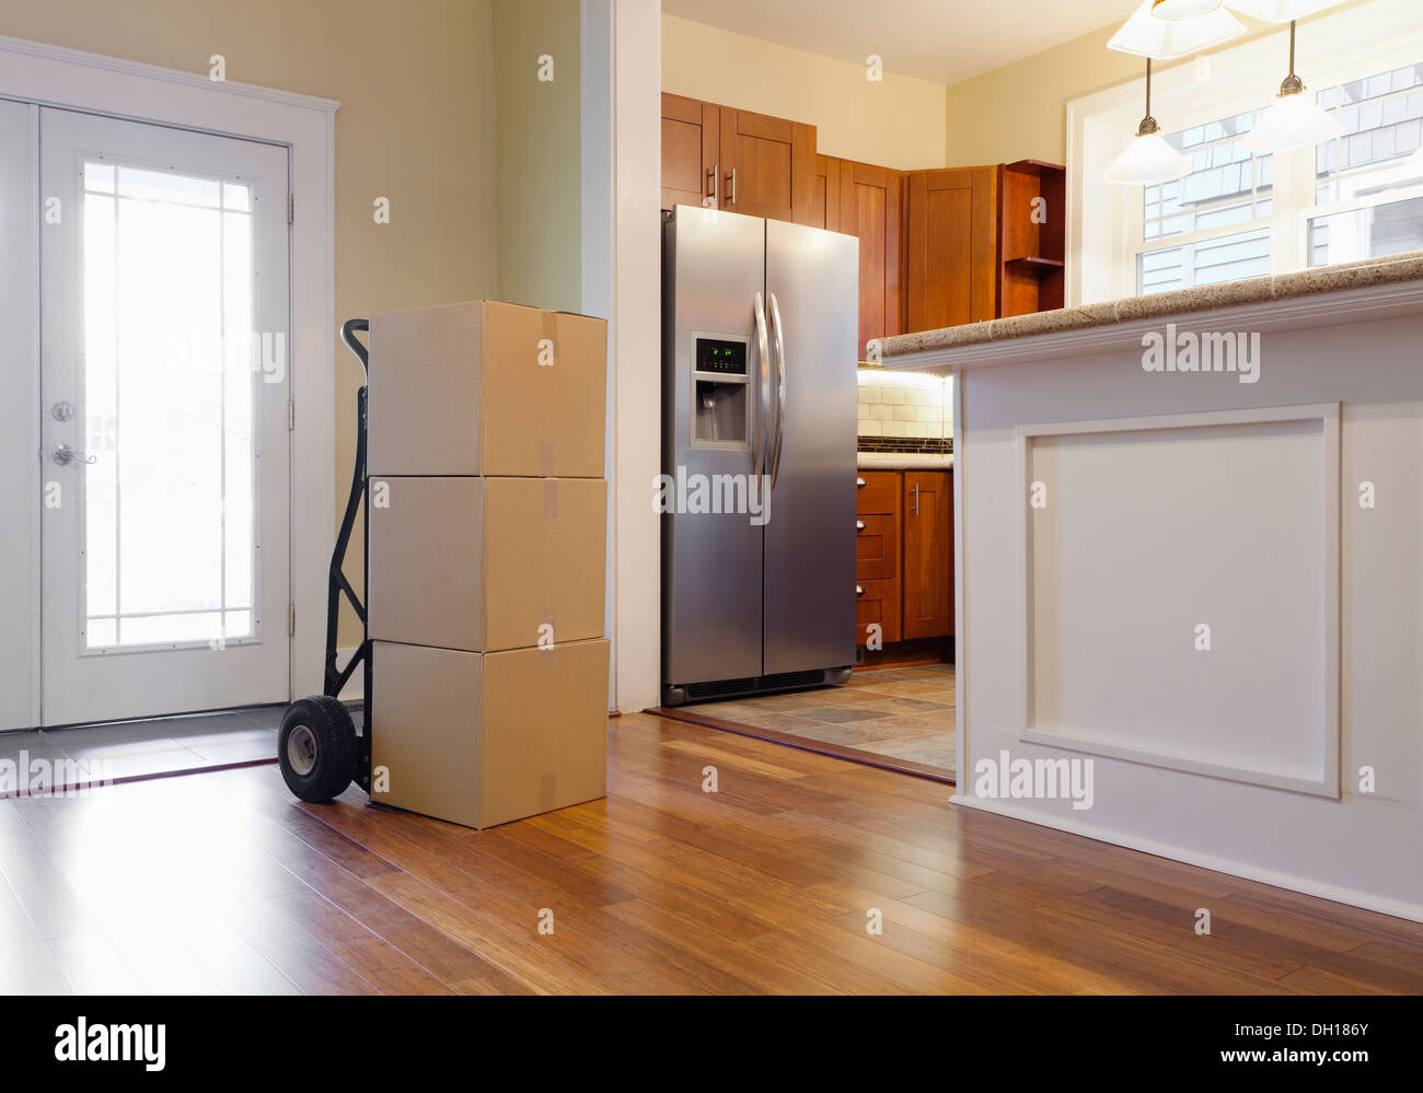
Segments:
[[[767,221],[766,290],[777,302],[776,386],[785,386],[766,525],[763,670],[776,675],[855,660],[859,241]]]

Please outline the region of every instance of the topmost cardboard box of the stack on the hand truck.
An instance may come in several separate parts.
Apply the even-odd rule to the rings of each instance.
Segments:
[[[373,475],[602,478],[608,323],[474,300],[370,319]]]

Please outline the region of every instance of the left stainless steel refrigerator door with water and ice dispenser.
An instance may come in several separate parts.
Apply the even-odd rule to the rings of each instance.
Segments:
[[[766,223],[754,216],[677,206],[663,253],[663,474],[693,501],[736,475],[751,477],[761,447],[760,334],[754,300],[766,278]],[[694,343],[746,342],[744,441],[696,441]],[[703,384],[730,377],[703,373]],[[717,390],[726,391],[726,387]],[[734,389],[731,394],[736,394]],[[663,683],[761,675],[763,529],[747,512],[686,512],[663,518]],[[850,628],[845,629],[850,633]]]

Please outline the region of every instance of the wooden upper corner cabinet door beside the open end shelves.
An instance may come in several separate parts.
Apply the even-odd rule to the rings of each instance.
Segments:
[[[993,319],[998,309],[995,169],[912,171],[905,205],[905,330]]]

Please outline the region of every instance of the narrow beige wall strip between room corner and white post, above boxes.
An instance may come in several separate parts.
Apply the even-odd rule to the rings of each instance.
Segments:
[[[564,312],[582,297],[578,50],[578,0],[494,0],[499,299]]]

